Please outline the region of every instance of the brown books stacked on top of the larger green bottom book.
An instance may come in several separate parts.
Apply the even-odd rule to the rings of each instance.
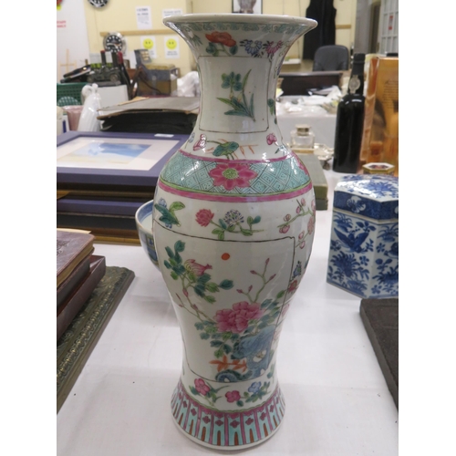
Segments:
[[[93,254],[94,240],[90,233],[57,230],[57,340],[105,275],[104,256]]]

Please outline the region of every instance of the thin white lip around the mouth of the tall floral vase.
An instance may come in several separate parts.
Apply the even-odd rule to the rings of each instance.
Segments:
[[[198,22],[232,22],[250,24],[288,24],[295,26],[309,26],[315,28],[318,23],[314,19],[301,16],[282,16],[282,15],[254,15],[239,13],[204,13],[168,16],[163,19],[163,24],[179,23],[198,23]]]

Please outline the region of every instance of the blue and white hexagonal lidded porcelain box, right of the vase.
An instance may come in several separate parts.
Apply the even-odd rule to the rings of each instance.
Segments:
[[[338,181],[326,281],[362,298],[399,296],[399,178]]]

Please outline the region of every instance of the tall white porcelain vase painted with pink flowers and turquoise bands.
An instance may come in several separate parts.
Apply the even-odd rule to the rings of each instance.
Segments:
[[[277,78],[302,17],[185,15],[163,20],[192,48],[201,109],[161,171],[152,232],[183,339],[171,398],[178,428],[239,450],[271,437],[285,413],[280,331],[312,249],[316,203],[282,140]]]

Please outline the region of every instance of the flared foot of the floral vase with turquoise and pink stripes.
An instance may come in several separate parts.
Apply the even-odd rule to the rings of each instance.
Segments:
[[[171,399],[171,412],[189,439],[209,448],[243,450],[262,443],[278,430],[285,414],[285,400],[277,386],[271,397],[251,409],[221,411],[192,398],[181,381]]]

